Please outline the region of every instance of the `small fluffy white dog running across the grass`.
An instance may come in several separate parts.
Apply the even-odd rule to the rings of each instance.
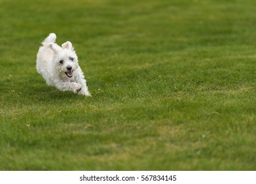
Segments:
[[[66,41],[60,47],[55,43],[55,39],[55,34],[49,34],[39,48],[36,60],[38,73],[48,85],[61,91],[91,96],[72,43]]]

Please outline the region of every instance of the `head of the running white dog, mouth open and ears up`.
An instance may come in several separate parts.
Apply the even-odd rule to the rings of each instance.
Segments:
[[[53,62],[55,69],[61,77],[72,78],[73,72],[78,68],[78,57],[70,41],[66,41],[59,47],[56,43],[50,43],[49,48],[53,50]]]

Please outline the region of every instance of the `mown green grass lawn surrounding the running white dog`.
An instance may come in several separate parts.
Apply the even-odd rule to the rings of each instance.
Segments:
[[[256,1],[0,1],[0,170],[256,170]],[[92,97],[36,72],[70,40]]]

